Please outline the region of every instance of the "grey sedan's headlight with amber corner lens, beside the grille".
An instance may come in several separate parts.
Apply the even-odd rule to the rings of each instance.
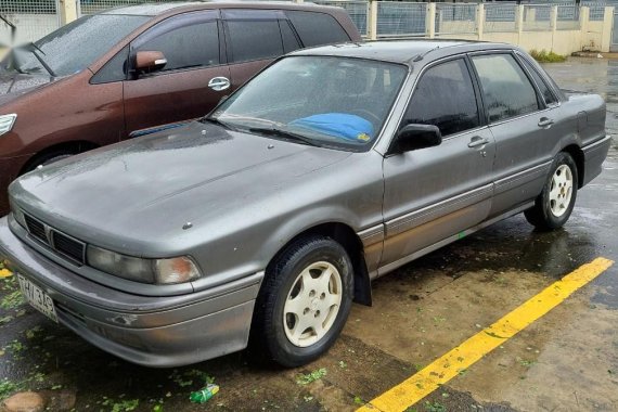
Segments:
[[[188,256],[171,259],[142,259],[96,246],[88,246],[87,260],[88,265],[94,269],[143,283],[183,283],[202,275]]]

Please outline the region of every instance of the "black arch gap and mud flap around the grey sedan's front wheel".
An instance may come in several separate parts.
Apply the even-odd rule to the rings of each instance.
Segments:
[[[350,257],[350,260],[352,261],[355,273],[353,301],[357,304],[371,306],[371,280],[369,278],[369,271],[366,269],[366,263],[364,260],[364,248],[360,237],[357,235],[355,230],[346,223],[326,222],[304,230],[291,239],[285,245],[283,245],[269,261],[268,266],[270,266],[271,262],[274,261],[280,256],[280,254],[287,248],[288,245],[296,242],[300,237],[310,235],[322,235],[331,237],[346,249]]]

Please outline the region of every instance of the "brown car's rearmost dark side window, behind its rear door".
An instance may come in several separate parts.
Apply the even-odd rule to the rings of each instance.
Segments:
[[[332,15],[314,12],[285,12],[305,47],[350,41],[350,37]]]

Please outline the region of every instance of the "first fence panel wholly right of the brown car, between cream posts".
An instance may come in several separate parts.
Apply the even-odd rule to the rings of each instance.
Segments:
[[[427,4],[400,1],[377,3],[377,37],[425,36]]]

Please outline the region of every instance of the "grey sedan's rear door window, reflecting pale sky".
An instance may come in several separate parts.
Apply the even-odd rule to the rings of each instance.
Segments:
[[[489,121],[520,116],[539,108],[537,92],[511,54],[472,57],[480,80]]]

